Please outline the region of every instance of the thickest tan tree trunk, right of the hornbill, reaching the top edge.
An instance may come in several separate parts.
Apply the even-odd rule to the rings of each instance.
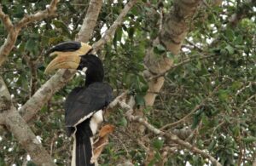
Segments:
[[[183,39],[189,31],[189,22],[199,9],[200,3],[201,0],[175,0],[171,11],[163,21],[160,35],[155,39],[154,45],[162,44],[165,46],[166,51],[177,55],[181,49]],[[160,60],[156,60],[153,48],[151,48],[147,51],[144,64],[148,68],[144,72],[145,77],[149,78],[169,70],[173,65],[173,61],[166,54],[162,55]],[[164,77],[155,77],[154,79],[148,80],[148,93],[144,97],[146,106],[154,105],[156,94],[160,92],[164,82]]]

